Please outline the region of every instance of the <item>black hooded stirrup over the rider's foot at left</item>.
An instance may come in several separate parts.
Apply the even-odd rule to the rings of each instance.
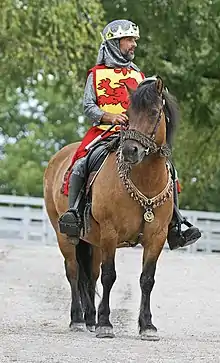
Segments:
[[[59,218],[60,233],[79,238],[82,220],[77,209],[70,208]]]

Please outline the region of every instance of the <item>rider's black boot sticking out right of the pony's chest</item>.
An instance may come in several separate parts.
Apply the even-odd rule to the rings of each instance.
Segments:
[[[167,242],[171,250],[175,250],[179,247],[185,247],[195,243],[200,237],[201,232],[198,228],[194,227],[190,222],[182,217],[178,209],[178,192],[176,180],[174,179],[174,209],[173,218],[168,227]],[[185,231],[181,231],[181,225],[185,224],[188,228]]]

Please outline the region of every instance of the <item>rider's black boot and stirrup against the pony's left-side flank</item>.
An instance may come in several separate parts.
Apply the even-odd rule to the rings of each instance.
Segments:
[[[80,211],[82,207],[82,198],[84,198],[85,178],[81,175],[72,173],[69,182],[69,209],[60,217],[60,232],[67,234],[69,237],[79,238],[82,228],[82,219]]]

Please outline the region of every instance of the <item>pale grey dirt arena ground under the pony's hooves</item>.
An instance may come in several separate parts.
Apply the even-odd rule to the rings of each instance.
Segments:
[[[117,252],[116,337],[100,340],[68,328],[70,288],[58,247],[1,241],[0,363],[219,363],[220,255],[163,251],[152,294],[161,339],[148,342],[137,329],[141,253]]]

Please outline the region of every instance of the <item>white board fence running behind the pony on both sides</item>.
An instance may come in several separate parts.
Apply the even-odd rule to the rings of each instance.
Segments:
[[[200,240],[187,247],[190,252],[220,252],[220,213],[181,210],[201,232]],[[0,195],[0,241],[56,243],[42,198]]]

